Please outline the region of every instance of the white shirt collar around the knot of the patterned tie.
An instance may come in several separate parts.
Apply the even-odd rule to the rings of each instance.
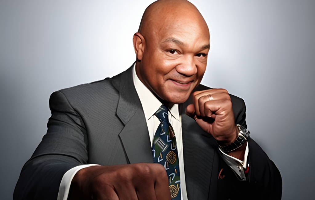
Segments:
[[[152,94],[152,92],[146,88],[146,86],[140,81],[136,74],[135,65],[132,69],[132,78],[134,81],[135,89],[138,93],[140,102],[142,104],[142,108],[144,111],[144,116],[146,120],[150,119],[157,109],[162,106],[162,103]],[[174,104],[172,108],[169,108],[169,112],[171,115],[180,121],[179,119],[179,111],[178,104]]]

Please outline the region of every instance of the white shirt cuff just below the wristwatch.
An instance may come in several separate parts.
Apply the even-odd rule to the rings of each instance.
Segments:
[[[226,162],[226,164],[228,166],[230,166],[230,168],[232,168],[232,170],[235,172],[235,174],[237,174],[237,176],[238,176],[238,178],[240,180],[245,181],[246,180],[246,176],[244,174],[244,169],[249,167],[249,163],[247,163],[247,157],[248,157],[248,152],[249,152],[249,150],[248,150],[248,143],[246,145],[244,161],[238,160],[235,157],[227,155],[220,148],[219,148],[219,150],[220,150],[219,153],[221,154],[221,157]]]

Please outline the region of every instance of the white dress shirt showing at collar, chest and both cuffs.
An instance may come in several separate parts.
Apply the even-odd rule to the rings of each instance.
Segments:
[[[142,104],[142,108],[144,111],[144,115],[146,118],[146,123],[148,126],[151,146],[153,143],[154,134],[160,125],[160,121],[155,116],[155,112],[162,105],[162,103],[152,94],[152,92],[146,88],[146,86],[140,81],[135,72],[135,65],[133,67],[133,81],[135,85],[135,89],[138,93],[140,102]],[[181,129],[181,115],[179,115],[178,104],[175,104],[173,107],[169,108],[169,122],[171,123],[176,137],[177,143],[177,151],[178,151],[178,159],[179,159],[179,168],[180,168],[180,188],[181,188],[181,199],[187,200],[187,192],[186,192],[186,182],[185,182],[185,170],[184,170],[184,154],[183,154],[183,142],[182,142],[182,129]],[[246,161],[248,156],[248,145],[246,147],[244,162],[238,160],[234,157],[231,157],[221,150],[219,151],[224,161],[233,169],[233,171],[238,175],[240,180],[246,180],[243,168],[246,169]],[[152,156],[153,159],[153,156]],[[80,169],[93,166],[95,164],[87,164],[87,165],[79,165],[68,170],[65,175],[62,177],[59,193],[57,200],[67,200],[69,189],[71,185],[71,181],[74,175]]]

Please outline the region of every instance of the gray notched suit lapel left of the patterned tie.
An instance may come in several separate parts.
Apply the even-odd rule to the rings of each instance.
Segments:
[[[119,91],[116,114],[125,125],[119,138],[129,163],[153,163],[149,131],[133,83],[132,67],[112,80]]]

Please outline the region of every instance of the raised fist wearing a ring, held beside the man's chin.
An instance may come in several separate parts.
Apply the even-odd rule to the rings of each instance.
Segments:
[[[193,94],[193,102],[186,114],[211,134],[221,145],[228,145],[237,138],[232,101],[225,89],[209,89]]]

